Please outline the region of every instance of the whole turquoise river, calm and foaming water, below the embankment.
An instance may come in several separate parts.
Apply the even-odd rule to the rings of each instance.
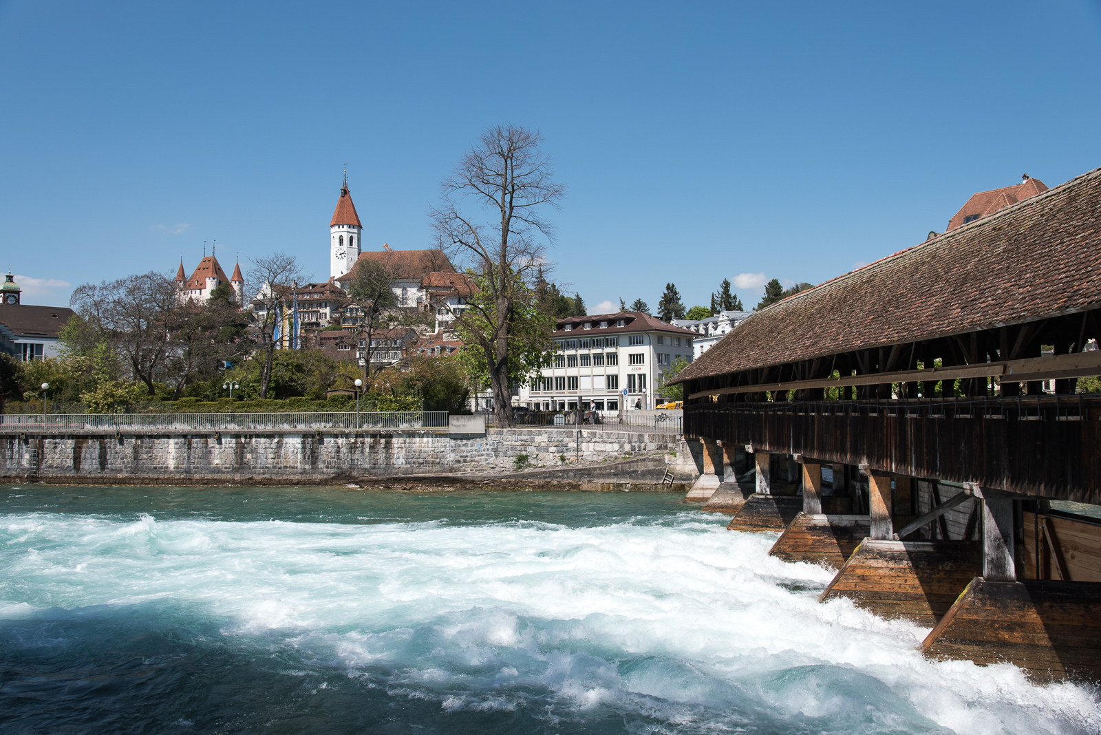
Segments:
[[[669,493],[0,486],[3,733],[1098,733]]]

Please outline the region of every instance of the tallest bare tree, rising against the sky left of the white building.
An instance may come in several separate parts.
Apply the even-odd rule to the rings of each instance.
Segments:
[[[472,268],[486,292],[470,307],[480,312],[482,326],[466,333],[486,355],[498,426],[512,426],[511,315],[531,294],[546,243],[554,239],[554,226],[543,212],[557,209],[566,193],[553,180],[542,142],[539,133],[521,125],[486,130],[442,184],[442,201],[430,210],[440,248]],[[472,206],[464,211],[467,202]],[[486,210],[493,219],[479,221]]]

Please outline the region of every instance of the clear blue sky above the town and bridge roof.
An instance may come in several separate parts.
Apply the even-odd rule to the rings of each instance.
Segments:
[[[325,278],[346,162],[366,244],[429,246],[438,183],[511,121],[569,187],[550,259],[590,311],[723,277],[752,306],[1101,165],[1099,41],[1069,0],[0,0],[0,243],[26,303],[204,240]]]

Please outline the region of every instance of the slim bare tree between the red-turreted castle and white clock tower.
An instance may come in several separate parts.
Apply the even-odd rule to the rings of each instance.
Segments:
[[[294,288],[305,282],[302,266],[294,255],[277,252],[265,257],[257,257],[249,268],[247,303],[252,305],[250,322],[259,347],[260,397],[268,397],[268,386],[272,382],[272,364],[275,361],[276,336],[290,325],[291,301]]]

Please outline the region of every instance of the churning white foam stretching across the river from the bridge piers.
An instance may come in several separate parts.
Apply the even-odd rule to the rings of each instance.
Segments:
[[[543,689],[686,732],[1099,732],[1095,692],[925,660],[927,629],[819,604],[832,572],[768,557],[773,539],[690,513],[590,528],[28,514],[0,519],[0,612],[173,600],[350,677],[384,666],[391,693],[447,711]]]

